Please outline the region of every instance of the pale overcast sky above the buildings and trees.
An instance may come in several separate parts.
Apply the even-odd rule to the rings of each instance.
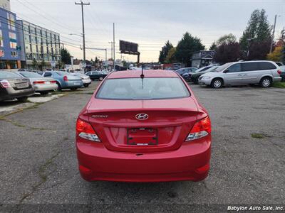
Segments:
[[[80,1],[80,0],[78,0]],[[239,38],[247,26],[254,9],[265,9],[269,22],[274,24],[276,38],[285,26],[285,0],[227,0],[227,1],[167,1],[167,0],[90,0],[85,6],[86,47],[108,48],[113,40],[115,22],[116,58],[118,41],[128,40],[139,44],[143,62],[157,61],[159,51],[166,40],[177,45],[182,34],[188,31],[209,45],[219,36],[233,33]],[[11,0],[11,11],[18,18],[26,19],[58,33],[66,48],[76,58],[83,58],[82,39],[70,33],[80,34],[81,6],[71,0]],[[278,36],[277,36],[278,35]],[[86,50],[86,58],[105,58],[100,50]],[[123,55],[126,60],[135,60],[133,55]]]

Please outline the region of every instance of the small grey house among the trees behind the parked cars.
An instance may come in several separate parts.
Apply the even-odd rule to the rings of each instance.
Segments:
[[[201,50],[193,53],[192,55],[192,67],[204,67],[214,62],[213,50]]]

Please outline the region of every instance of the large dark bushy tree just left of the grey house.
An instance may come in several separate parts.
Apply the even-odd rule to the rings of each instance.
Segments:
[[[199,50],[204,50],[201,40],[186,32],[177,44],[175,58],[190,66],[193,53]]]

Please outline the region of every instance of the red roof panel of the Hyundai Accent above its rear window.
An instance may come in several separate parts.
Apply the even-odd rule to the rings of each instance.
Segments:
[[[125,78],[125,77],[140,77],[141,70],[126,70],[111,72],[108,79]],[[170,70],[143,70],[145,77],[178,77],[177,73]]]

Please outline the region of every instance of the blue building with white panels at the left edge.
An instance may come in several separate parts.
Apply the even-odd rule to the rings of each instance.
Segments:
[[[0,8],[0,69],[21,67],[21,47],[17,44],[19,35],[15,21],[15,13]]]

